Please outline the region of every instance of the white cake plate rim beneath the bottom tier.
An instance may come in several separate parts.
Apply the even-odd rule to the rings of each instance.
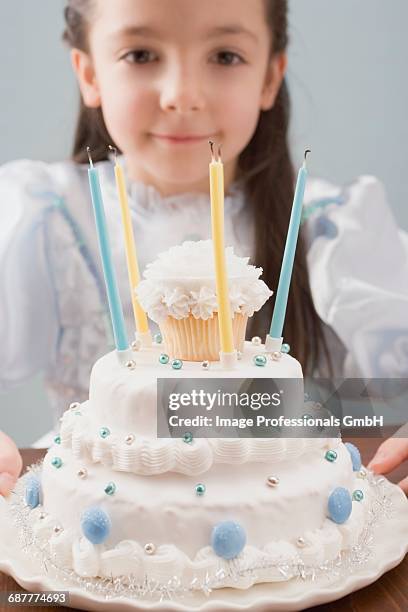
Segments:
[[[82,610],[134,611],[134,610],[195,610],[221,612],[224,610],[303,610],[340,599],[361,589],[384,572],[402,561],[408,552],[408,503],[405,495],[395,485],[386,482],[387,495],[392,503],[391,517],[376,524],[371,554],[364,565],[352,574],[343,576],[319,576],[315,580],[293,579],[287,582],[258,584],[247,590],[215,589],[208,596],[197,593],[182,599],[153,601],[123,597],[94,595],[80,588],[75,582],[59,580],[35,562],[18,544],[17,527],[11,516],[11,503],[0,496],[0,571],[12,576],[24,589],[38,591],[69,591],[69,606]]]

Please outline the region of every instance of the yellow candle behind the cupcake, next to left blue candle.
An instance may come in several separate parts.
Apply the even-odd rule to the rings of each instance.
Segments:
[[[135,293],[135,288],[140,282],[139,264],[137,261],[135,238],[133,234],[132,221],[130,218],[129,203],[126,192],[125,177],[123,169],[118,161],[115,160],[115,178],[118,190],[120,209],[122,212],[122,224],[125,234],[126,260],[129,275],[130,293],[132,296],[133,314],[135,317],[136,330],[139,334],[146,334],[149,331],[147,316],[140,306]]]

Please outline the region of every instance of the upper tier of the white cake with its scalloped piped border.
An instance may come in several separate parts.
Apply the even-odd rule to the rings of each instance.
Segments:
[[[220,362],[208,368],[185,362],[175,370],[171,362],[161,363],[163,346],[153,346],[135,352],[135,362],[126,368],[114,352],[97,361],[91,374],[90,399],[64,414],[61,443],[72,448],[83,462],[103,463],[112,469],[153,476],[165,472],[202,474],[215,464],[240,465],[296,460],[312,449],[321,449],[327,438],[195,438],[185,443],[180,438],[157,438],[157,379],[166,378],[180,386],[183,380],[217,379],[225,384],[233,379],[295,378],[296,397],[291,408],[308,412],[303,403],[303,376],[300,364],[289,355],[278,360],[266,356],[262,345],[246,342],[242,358],[233,370]],[[266,357],[259,367],[256,355]]]

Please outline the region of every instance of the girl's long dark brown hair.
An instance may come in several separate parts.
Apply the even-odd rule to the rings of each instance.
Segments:
[[[287,0],[265,0],[266,18],[271,31],[271,53],[285,52],[288,45]],[[93,0],[68,0],[65,8],[64,41],[88,51],[87,31]],[[246,194],[255,223],[255,263],[263,268],[263,279],[276,288],[282,262],[294,194],[294,172],[289,153],[288,128],[290,99],[283,80],[274,106],[260,113],[255,133],[238,162],[237,180]],[[72,158],[87,163],[86,147],[94,161],[107,159],[107,143],[114,144],[100,108],[87,108],[80,102]],[[251,321],[251,335],[265,336],[272,317],[274,296]],[[290,344],[306,373],[312,373],[323,360],[331,370],[330,357],[311,295],[306,264],[306,248],[300,233],[286,311],[285,342]]]

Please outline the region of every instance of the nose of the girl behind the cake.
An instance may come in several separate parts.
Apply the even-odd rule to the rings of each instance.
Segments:
[[[174,70],[162,83],[160,106],[165,111],[180,114],[203,110],[202,87],[197,74],[191,70]]]

